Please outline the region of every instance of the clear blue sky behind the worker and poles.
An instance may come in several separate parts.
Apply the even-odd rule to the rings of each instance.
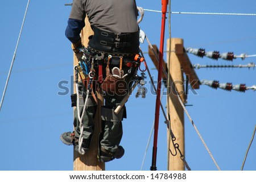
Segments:
[[[61,81],[71,90],[73,53],[65,38],[72,1],[31,1],[20,39],[13,72],[0,111],[0,170],[72,170],[73,148],[61,143],[59,136],[73,128],[70,93],[57,93]],[[27,1],[3,1],[0,7],[0,93],[13,58],[16,41]],[[143,9],[161,10],[161,1],[137,0]],[[256,13],[254,1],[174,0],[172,11],[211,13]],[[184,47],[205,48],[206,51],[234,52],[236,55],[256,54],[256,16],[231,15],[171,15],[171,34],[182,38]],[[145,11],[139,24],[152,44],[159,47],[161,14]],[[168,23],[168,22],[166,22]],[[168,24],[166,26],[166,40]],[[164,44],[166,48],[166,43]],[[144,52],[148,44],[141,44]],[[192,64],[236,65],[255,63],[255,57],[214,61],[188,55]],[[154,68],[145,54],[148,66]],[[164,55],[166,60],[166,55]],[[218,80],[233,84],[256,85],[254,69],[196,70],[200,80]],[[156,70],[151,74],[157,77]],[[147,80],[149,77],[147,75]],[[189,92],[187,110],[204,138],[214,159],[222,170],[240,170],[256,124],[255,92],[212,89],[201,85],[197,94]],[[122,159],[106,163],[106,170],[139,170],[152,122],[155,117],[156,96],[135,98],[127,102],[128,117],[123,121]],[[166,97],[163,97],[166,105]],[[167,169],[167,131],[160,112],[158,170]],[[143,170],[150,170],[152,139]],[[255,170],[256,144],[251,145],[244,170]],[[185,115],[185,159],[192,170],[217,170],[200,138]]]

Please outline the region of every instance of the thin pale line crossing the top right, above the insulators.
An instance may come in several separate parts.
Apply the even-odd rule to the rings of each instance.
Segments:
[[[162,13],[162,11],[150,10],[150,9],[144,9],[144,11]],[[256,14],[253,14],[253,13],[207,13],[207,12],[177,12],[177,11],[171,11],[171,14],[256,16]]]

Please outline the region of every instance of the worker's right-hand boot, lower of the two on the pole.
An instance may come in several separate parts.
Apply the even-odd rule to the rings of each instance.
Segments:
[[[120,159],[125,154],[125,150],[122,146],[118,146],[117,151],[110,152],[105,148],[101,147],[100,156],[98,156],[98,161],[100,162],[109,162],[111,160]]]

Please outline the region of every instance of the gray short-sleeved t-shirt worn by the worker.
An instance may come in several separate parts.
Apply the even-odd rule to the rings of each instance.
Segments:
[[[135,0],[74,0],[69,18],[84,20],[91,26],[115,34],[137,32],[138,10]]]

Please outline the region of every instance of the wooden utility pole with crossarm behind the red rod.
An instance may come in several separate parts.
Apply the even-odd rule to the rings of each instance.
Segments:
[[[181,70],[181,64],[179,61],[179,58],[177,57],[175,53],[175,45],[176,44],[182,44],[183,45],[183,39],[177,39],[172,38],[171,39],[171,46],[169,40],[167,40],[167,52],[171,47],[171,55],[167,53],[167,57],[171,56],[170,63],[168,63],[169,68],[169,74],[172,77],[172,80],[174,82],[171,82],[170,84],[174,84],[174,86],[169,85],[170,88],[168,88],[168,103],[169,106],[167,107],[168,114],[170,115],[171,119],[171,129],[172,133],[175,135],[176,140],[175,143],[179,144],[179,149],[181,151],[181,154],[184,154],[184,110],[183,107],[180,105],[179,100],[176,96],[175,90],[173,88],[176,88],[176,92],[179,94],[181,100],[185,101],[185,94],[184,94],[184,78],[183,78],[183,71]],[[169,135],[169,131],[168,131]],[[180,159],[179,151],[175,151],[174,145],[172,144],[172,140],[170,140],[170,161],[169,161],[169,170],[171,171],[184,171],[184,164],[183,161]],[[177,155],[173,156],[172,154]],[[171,154],[172,153],[172,154]]]

